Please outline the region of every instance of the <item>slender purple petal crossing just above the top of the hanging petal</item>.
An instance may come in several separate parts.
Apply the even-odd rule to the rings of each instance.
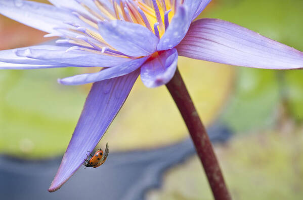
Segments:
[[[147,58],[148,57],[143,57],[132,61],[124,62],[122,64],[113,66],[112,68],[104,69],[97,73],[81,74],[73,77],[67,77],[58,80],[58,82],[65,85],[79,85],[120,77],[134,72],[135,70],[140,68],[140,66],[147,60]]]

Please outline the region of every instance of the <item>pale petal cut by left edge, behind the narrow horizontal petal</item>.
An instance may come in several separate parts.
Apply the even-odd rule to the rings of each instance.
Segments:
[[[20,57],[15,54],[17,50],[24,50],[27,48],[36,49],[53,49],[62,50],[66,47],[55,46],[55,45],[39,45],[31,46],[17,49],[8,49],[0,51],[0,69],[10,69],[10,70],[22,70],[22,69],[38,69],[38,68],[64,68],[66,64],[59,62],[51,62],[48,60],[38,60],[28,57]]]

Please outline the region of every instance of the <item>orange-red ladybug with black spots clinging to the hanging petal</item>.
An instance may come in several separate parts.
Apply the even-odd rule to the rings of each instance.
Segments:
[[[89,155],[87,155],[88,158],[84,159],[83,165],[85,167],[94,167],[94,168],[99,167],[100,165],[102,165],[105,162],[108,153],[109,153],[108,143],[106,143],[106,148],[105,148],[104,153],[103,153],[102,149],[98,149],[96,151],[96,153],[94,154],[94,156],[90,155],[91,159],[89,159]]]

